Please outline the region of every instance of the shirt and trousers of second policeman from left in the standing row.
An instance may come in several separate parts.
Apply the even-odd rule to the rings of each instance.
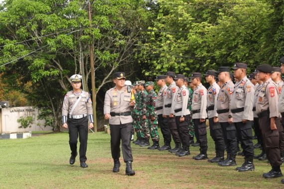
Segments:
[[[164,103],[163,103],[163,115],[167,115],[167,125],[170,129],[172,138],[174,143],[180,144],[180,138],[178,135],[176,123],[175,123],[175,117],[171,118],[169,117],[169,114],[174,114],[174,99],[176,96],[176,92],[178,91],[178,87],[175,85],[175,82],[173,81],[167,88],[166,94],[164,96]]]

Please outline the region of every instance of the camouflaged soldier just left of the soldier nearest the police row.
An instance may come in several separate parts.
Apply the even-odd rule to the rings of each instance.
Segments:
[[[141,147],[144,146],[149,146],[149,138],[150,138],[150,133],[149,133],[149,128],[148,128],[148,120],[146,117],[146,99],[148,93],[144,89],[144,81],[139,82],[139,91],[140,91],[140,100],[139,103],[136,103],[137,105],[137,110],[139,114],[139,124],[141,125],[142,128],[142,142],[140,143]]]

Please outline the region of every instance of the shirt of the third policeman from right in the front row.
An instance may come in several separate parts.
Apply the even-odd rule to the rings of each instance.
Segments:
[[[215,104],[217,110],[230,109],[234,86],[233,82],[229,80],[220,88],[217,103]],[[219,122],[228,122],[228,115],[232,115],[231,110],[227,113],[219,113]]]

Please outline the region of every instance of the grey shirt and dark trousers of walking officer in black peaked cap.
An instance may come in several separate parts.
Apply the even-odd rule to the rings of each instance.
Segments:
[[[133,161],[131,150],[132,116],[130,107],[131,93],[124,87],[119,91],[116,87],[108,90],[105,95],[104,114],[111,115],[111,151],[113,159],[120,158],[120,140],[124,162]]]

